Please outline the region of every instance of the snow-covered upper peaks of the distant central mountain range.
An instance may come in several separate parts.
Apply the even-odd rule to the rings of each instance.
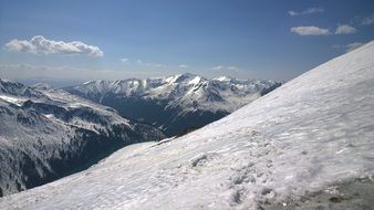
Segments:
[[[253,86],[262,86],[260,88],[267,88],[269,85],[276,84],[272,81],[240,81],[226,77],[228,80],[207,80],[202,76],[185,73],[166,77],[156,77],[147,80],[127,78],[121,81],[92,81],[83,83],[75,87],[69,87],[69,91],[76,91],[84,94],[97,94],[105,95],[107,93],[116,94],[139,94],[145,97],[162,97],[177,98],[191,93],[193,91],[204,90],[202,92],[212,91],[217,86],[218,88],[229,90],[231,86],[239,88],[252,88]],[[228,84],[229,83],[229,84]],[[224,87],[225,86],[225,87]]]

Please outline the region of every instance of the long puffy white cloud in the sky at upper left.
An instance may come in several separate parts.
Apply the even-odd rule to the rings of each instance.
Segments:
[[[89,56],[103,56],[98,46],[87,45],[80,41],[63,42],[48,40],[42,35],[35,35],[29,40],[11,40],[6,43],[6,49],[17,52],[29,52],[33,54],[82,54]]]

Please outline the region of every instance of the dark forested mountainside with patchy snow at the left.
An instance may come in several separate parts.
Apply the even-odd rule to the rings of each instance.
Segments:
[[[153,127],[67,92],[0,78],[0,196],[83,169],[125,145],[162,137]]]

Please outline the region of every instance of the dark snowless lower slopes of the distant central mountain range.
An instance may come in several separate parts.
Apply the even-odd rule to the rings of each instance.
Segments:
[[[166,136],[180,135],[186,129],[202,127],[230,114],[196,109],[180,115],[183,107],[167,107],[166,101],[118,98],[114,95],[104,97],[102,104],[113,107],[123,117],[159,127]]]

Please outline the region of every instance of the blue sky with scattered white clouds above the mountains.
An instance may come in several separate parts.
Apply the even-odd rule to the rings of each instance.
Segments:
[[[0,76],[290,80],[373,39],[373,0],[3,0]]]

